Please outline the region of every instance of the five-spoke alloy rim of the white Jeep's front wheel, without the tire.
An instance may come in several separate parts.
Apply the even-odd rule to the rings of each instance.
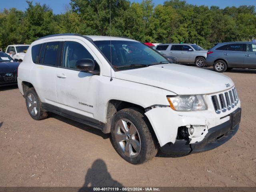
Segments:
[[[116,123],[114,137],[118,148],[125,156],[134,158],[141,149],[140,135],[134,124],[128,119],[120,119]]]

